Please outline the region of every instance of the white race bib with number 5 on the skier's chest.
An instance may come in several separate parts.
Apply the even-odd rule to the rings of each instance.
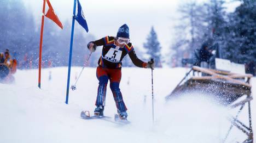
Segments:
[[[113,63],[119,63],[123,51],[118,49],[110,48],[108,53],[103,57],[104,59]]]

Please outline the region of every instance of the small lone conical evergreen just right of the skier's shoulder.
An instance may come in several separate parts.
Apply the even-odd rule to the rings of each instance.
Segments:
[[[154,59],[156,67],[161,67],[161,46],[154,27],[151,28],[147,42],[143,46],[147,49],[147,54],[150,58]]]

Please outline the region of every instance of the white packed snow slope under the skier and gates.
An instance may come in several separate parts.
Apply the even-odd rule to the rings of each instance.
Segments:
[[[71,84],[81,67],[72,67]],[[128,125],[105,120],[80,119],[82,110],[95,108],[97,95],[96,68],[85,68],[70,91],[65,104],[67,67],[44,69],[42,89],[37,88],[37,70],[18,70],[14,84],[0,84],[0,142],[220,142],[230,123],[230,111],[204,95],[191,93],[165,101],[188,69],[155,69],[155,122],[152,123],[151,70],[123,68],[120,84],[127,105]],[[49,74],[51,73],[51,79]],[[253,94],[256,80],[252,79]],[[255,101],[252,102],[253,127],[256,130]],[[112,92],[107,89],[104,114],[117,112]],[[240,120],[248,122],[248,110]],[[114,120],[113,120],[114,121]],[[227,142],[245,138],[234,128]]]

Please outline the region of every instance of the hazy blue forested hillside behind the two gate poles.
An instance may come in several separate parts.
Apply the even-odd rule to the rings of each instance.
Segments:
[[[0,52],[8,48],[11,56],[18,60],[20,68],[30,67],[29,63],[32,63],[33,68],[37,68],[40,22],[36,25],[31,11],[26,9],[20,0],[0,1],[0,16],[3,20],[0,22]],[[63,22],[63,30],[61,30],[49,18],[44,18],[43,67],[47,67],[49,60],[53,66],[67,66],[71,38],[70,22],[71,19]],[[88,55],[86,44],[95,40],[92,35],[84,34],[84,29],[75,26],[73,44],[73,65],[75,66],[83,66],[85,57]],[[91,57],[91,61],[95,62],[94,56]]]

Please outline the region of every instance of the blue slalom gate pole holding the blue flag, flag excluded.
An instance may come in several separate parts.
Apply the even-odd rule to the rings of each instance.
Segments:
[[[66,102],[65,102],[66,104],[68,104],[69,82],[70,82],[70,72],[71,72],[71,63],[72,63],[72,49],[73,49],[73,37],[74,37],[75,8],[77,8],[77,0],[74,0],[74,9],[73,9],[71,40],[70,40],[70,50],[69,50],[69,61],[68,61],[67,94],[66,94]]]

